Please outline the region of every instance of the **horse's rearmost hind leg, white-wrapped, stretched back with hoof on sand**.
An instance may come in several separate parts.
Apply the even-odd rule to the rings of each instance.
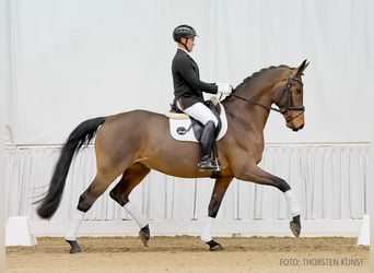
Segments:
[[[81,247],[77,242],[77,234],[83,221],[84,214],[91,209],[92,204],[96,201],[96,199],[103,194],[103,192],[108,188],[113,180],[118,176],[112,174],[112,171],[107,174],[110,175],[97,173],[92,183],[81,194],[79,199],[78,207],[72,214],[68,232],[65,236],[65,239],[67,240],[67,242],[69,242],[71,247],[70,253],[79,253],[82,251]]]

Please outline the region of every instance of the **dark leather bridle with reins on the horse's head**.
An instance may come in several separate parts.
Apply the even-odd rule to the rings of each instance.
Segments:
[[[292,92],[291,92],[291,88],[292,88],[292,82],[295,81],[297,83],[300,83],[301,85],[303,85],[303,82],[297,79],[297,78],[294,78],[293,74],[292,74],[292,71],[290,71],[290,75],[289,75],[289,79],[287,81],[287,84],[283,88],[283,91],[281,92],[281,95],[279,96],[280,98],[278,99],[278,102],[276,103],[276,105],[279,105],[279,102],[282,100],[282,98],[284,96],[287,96],[287,105],[284,107],[279,107],[279,108],[274,108],[274,107],[269,107],[269,106],[266,106],[266,105],[262,105],[262,104],[259,104],[259,103],[255,103],[255,102],[252,102],[245,97],[242,97],[242,96],[238,96],[236,95],[235,93],[232,93],[231,96],[233,97],[236,97],[238,99],[242,99],[244,102],[247,102],[249,104],[253,104],[253,105],[257,105],[257,106],[260,106],[267,110],[273,110],[273,111],[278,111],[282,115],[285,115],[287,112],[289,111],[302,111],[304,112],[305,111],[305,107],[304,106],[293,106],[293,103],[292,103]]]

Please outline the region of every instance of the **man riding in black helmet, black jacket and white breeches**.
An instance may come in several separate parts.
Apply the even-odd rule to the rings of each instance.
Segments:
[[[200,138],[200,170],[217,170],[220,166],[211,158],[218,119],[203,104],[202,92],[230,95],[231,85],[226,83],[206,83],[200,81],[199,67],[189,55],[195,46],[196,31],[189,25],[179,25],[173,32],[177,51],[172,63],[174,83],[174,104],[188,116],[200,121],[204,128]]]

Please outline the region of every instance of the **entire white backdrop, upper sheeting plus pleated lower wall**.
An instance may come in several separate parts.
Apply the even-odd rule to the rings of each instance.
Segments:
[[[305,128],[291,132],[272,112],[260,165],[290,182],[304,236],[358,235],[371,182],[374,1],[8,0],[5,9],[7,217],[27,216],[37,236],[65,233],[95,158],[91,145],[78,154],[60,209],[40,221],[33,202],[47,189],[63,141],[87,118],[166,111],[172,31],[187,23],[199,34],[192,56],[207,82],[236,86],[262,68],[311,61],[303,78]],[[198,235],[212,186],[153,171],[130,198],[153,235]],[[289,218],[277,189],[234,180],[213,235],[291,236]],[[137,235],[127,219],[106,192],[81,234]]]

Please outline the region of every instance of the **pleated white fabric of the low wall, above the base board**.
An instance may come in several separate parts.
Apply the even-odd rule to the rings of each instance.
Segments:
[[[33,202],[47,190],[60,147],[9,147],[5,151],[7,216],[38,221]],[[367,213],[369,144],[267,145],[260,163],[285,179],[306,219],[359,219]],[[60,209],[54,221],[66,221],[95,174],[92,146],[73,159]],[[113,186],[115,182],[113,183]],[[130,199],[153,221],[189,221],[207,216],[212,179],[183,179],[152,171]],[[110,187],[112,188],[112,187]],[[110,188],[108,190],[110,190]],[[271,187],[234,180],[219,219],[285,219],[283,194]],[[126,219],[129,215],[108,197],[101,197],[86,219]]]

